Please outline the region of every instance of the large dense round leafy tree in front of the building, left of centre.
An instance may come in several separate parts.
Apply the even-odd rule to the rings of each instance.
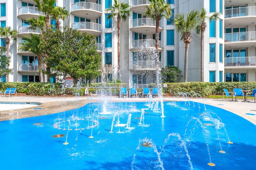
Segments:
[[[46,30],[43,33],[42,48],[48,57],[44,63],[45,73],[57,77],[70,76],[78,79],[92,79],[100,75],[101,56],[97,53],[94,35],[81,33],[65,27],[60,30]]]

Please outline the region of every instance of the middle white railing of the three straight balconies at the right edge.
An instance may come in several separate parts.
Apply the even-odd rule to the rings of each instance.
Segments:
[[[255,41],[256,32],[233,32],[225,34],[225,42]]]

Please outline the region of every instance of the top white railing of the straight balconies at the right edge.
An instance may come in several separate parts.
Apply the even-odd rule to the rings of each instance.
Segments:
[[[231,8],[225,10],[225,18],[256,16],[256,6],[246,6],[240,8]]]

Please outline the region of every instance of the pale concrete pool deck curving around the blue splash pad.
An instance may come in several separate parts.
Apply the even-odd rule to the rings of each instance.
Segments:
[[[142,98],[118,98],[118,97],[109,97],[111,101],[146,101],[146,99]],[[158,98],[154,98],[158,99]],[[177,98],[164,98],[164,101],[174,101]],[[49,115],[52,113],[62,112],[64,110],[72,110],[78,107],[82,107],[90,102],[100,102],[103,98],[101,97],[34,97],[34,96],[12,96],[12,97],[0,97],[0,101],[6,102],[40,102],[42,105],[36,107],[22,108],[22,109],[12,109],[8,111],[0,111],[0,121],[20,119],[26,117],[34,117],[40,115]],[[180,101],[180,99],[179,99]],[[194,99],[197,102],[196,99]],[[215,107],[219,107],[235,113],[244,119],[252,122],[256,125],[256,103],[250,102],[242,102],[242,100],[238,101],[223,101],[223,99],[207,99],[204,98],[203,101],[199,99],[200,103],[204,103],[207,105],[212,105]],[[191,103],[190,103],[191,104]],[[206,107],[207,109],[207,107]]]

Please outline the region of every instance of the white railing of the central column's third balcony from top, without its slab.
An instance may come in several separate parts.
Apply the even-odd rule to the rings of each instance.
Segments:
[[[162,41],[158,41],[159,45],[158,48],[162,48]],[[151,39],[142,39],[142,40],[133,40],[131,41],[132,48],[150,48],[156,47],[156,41]]]

